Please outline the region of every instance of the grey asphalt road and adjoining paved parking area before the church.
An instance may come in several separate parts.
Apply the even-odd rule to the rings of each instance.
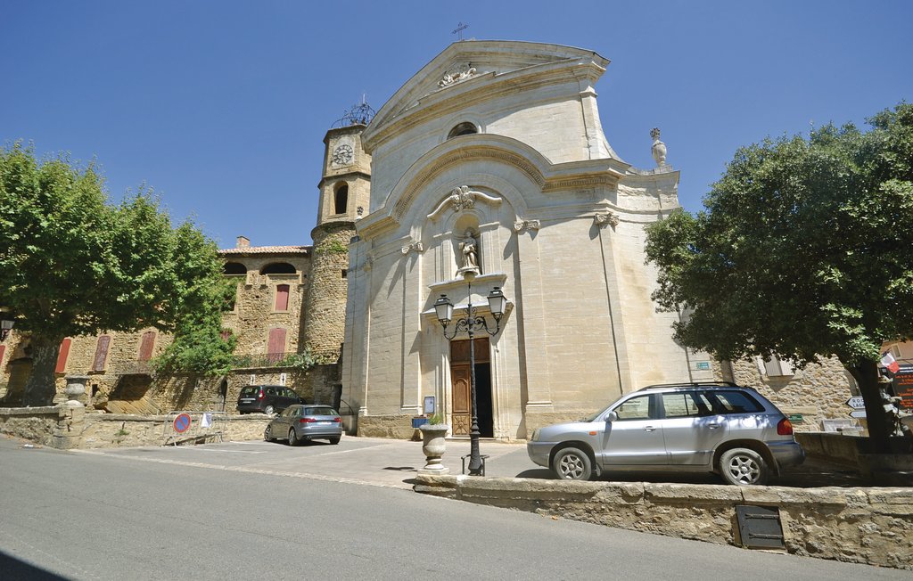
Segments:
[[[403,489],[404,462],[381,467],[400,472],[389,481],[317,470],[333,453],[370,471],[363,448],[383,441],[105,453],[23,443],[0,438],[5,580],[909,578],[429,497]]]

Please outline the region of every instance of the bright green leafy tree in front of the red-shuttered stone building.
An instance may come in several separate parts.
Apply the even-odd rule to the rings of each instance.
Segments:
[[[181,331],[225,304],[215,244],[192,223],[173,228],[151,192],[110,203],[94,164],[37,161],[18,142],[0,149],[0,281],[0,306],[30,334],[32,406],[54,397],[64,337]]]

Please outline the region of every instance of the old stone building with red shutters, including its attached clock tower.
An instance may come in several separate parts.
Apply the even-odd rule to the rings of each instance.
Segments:
[[[312,245],[252,246],[239,236],[235,248],[220,251],[225,275],[237,289],[232,310],[223,316],[224,332],[237,339],[230,373],[156,375],[151,360],[172,337],[154,328],[67,337],[58,355],[57,399],[66,399],[68,379],[76,377],[86,383],[86,403],[114,413],[233,413],[238,391],[254,383],[287,385],[306,399],[335,403],[348,244],[371,179],[371,158],[358,137],[367,120],[350,115],[327,132]],[[28,337],[14,331],[0,344],[0,407],[17,405],[30,368]]]

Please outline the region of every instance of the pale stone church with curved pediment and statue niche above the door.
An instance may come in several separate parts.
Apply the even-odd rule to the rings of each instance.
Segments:
[[[370,205],[350,246],[341,370],[360,435],[402,437],[423,413],[468,434],[472,371],[481,436],[505,440],[648,384],[713,379],[650,299],[645,225],[679,207],[678,172],[658,130],[648,170],[606,140],[593,87],[608,64],[456,42],[363,130]],[[507,299],[497,322],[492,293]],[[474,368],[467,333],[450,339],[470,304],[491,332],[476,326]]]

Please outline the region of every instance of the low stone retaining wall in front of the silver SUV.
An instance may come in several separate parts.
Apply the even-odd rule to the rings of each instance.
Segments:
[[[913,490],[418,475],[415,492],[643,533],[742,545],[735,507],[779,509],[786,551],[913,569]]]

